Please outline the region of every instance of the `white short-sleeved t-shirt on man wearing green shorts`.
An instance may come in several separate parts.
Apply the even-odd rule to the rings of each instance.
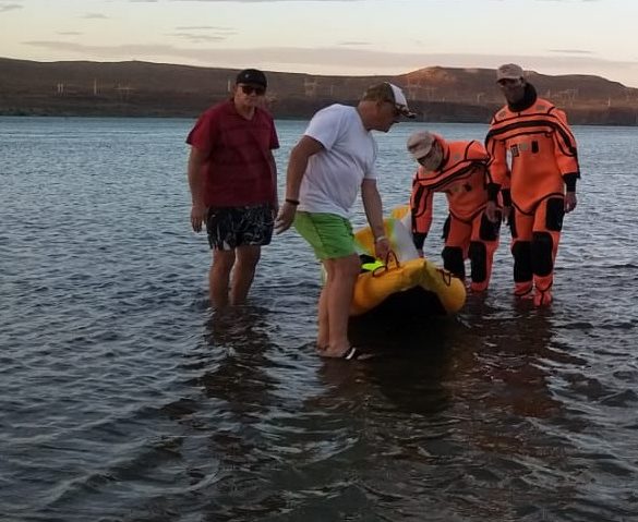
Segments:
[[[324,149],[310,157],[299,192],[299,210],[348,218],[364,178],[376,179],[376,142],[354,107],[320,110],[304,133]]]

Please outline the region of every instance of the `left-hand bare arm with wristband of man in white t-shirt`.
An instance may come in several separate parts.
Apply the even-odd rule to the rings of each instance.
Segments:
[[[297,205],[299,204],[299,189],[310,157],[321,153],[323,149],[324,146],[320,142],[304,135],[290,153],[286,172],[286,201],[281,205],[275,222],[275,229],[278,234],[288,230],[294,220]]]

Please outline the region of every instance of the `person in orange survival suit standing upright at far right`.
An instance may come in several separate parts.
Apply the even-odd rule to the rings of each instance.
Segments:
[[[546,305],[552,302],[563,217],[576,208],[576,139],[565,113],[537,96],[519,65],[499,66],[496,82],[507,105],[494,114],[485,137],[491,157],[486,211],[490,219],[498,219],[502,190],[503,216],[511,229],[515,294],[531,298],[534,290],[534,305]]]

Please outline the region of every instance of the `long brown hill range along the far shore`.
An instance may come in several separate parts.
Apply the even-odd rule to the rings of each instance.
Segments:
[[[194,118],[228,96],[238,70],[140,61],[35,62],[0,58],[0,114]],[[276,118],[309,118],[335,101],[354,104],[368,85],[404,87],[424,121],[487,122],[503,105],[490,69],[425,68],[396,76],[267,72]],[[638,89],[591,75],[530,72],[541,96],[571,123],[638,124]]]

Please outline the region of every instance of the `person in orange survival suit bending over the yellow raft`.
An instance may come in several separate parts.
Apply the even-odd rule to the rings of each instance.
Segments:
[[[482,292],[490,284],[492,259],[498,246],[499,220],[484,215],[487,205],[489,156],[479,142],[446,142],[431,132],[416,132],[408,151],[420,163],[412,182],[410,210],[412,238],[419,252],[432,226],[435,192],[447,196],[449,216],[444,227],[443,266],[465,279],[465,260],[471,267],[470,289]]]

